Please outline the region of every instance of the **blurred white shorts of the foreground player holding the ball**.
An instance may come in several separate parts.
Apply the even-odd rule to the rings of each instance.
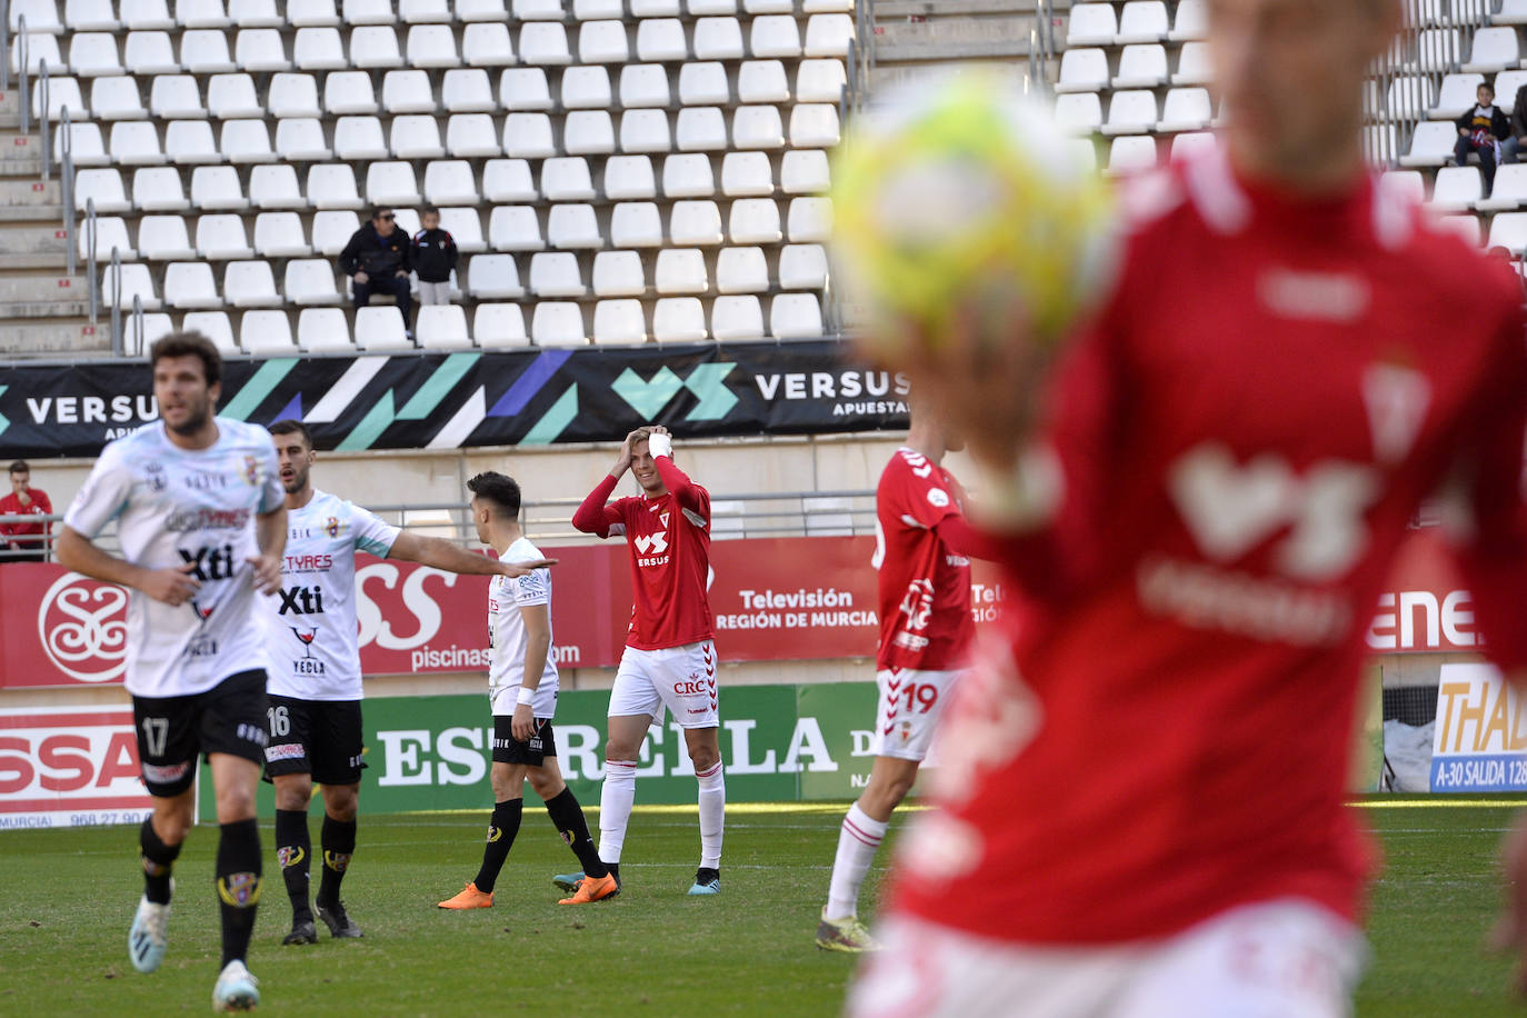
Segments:
[[[904,916],[876,933],[849,1018],[1344,1018],[1368,955],[1356,926],[1299,897],[1141,945],[1011,945]]]

